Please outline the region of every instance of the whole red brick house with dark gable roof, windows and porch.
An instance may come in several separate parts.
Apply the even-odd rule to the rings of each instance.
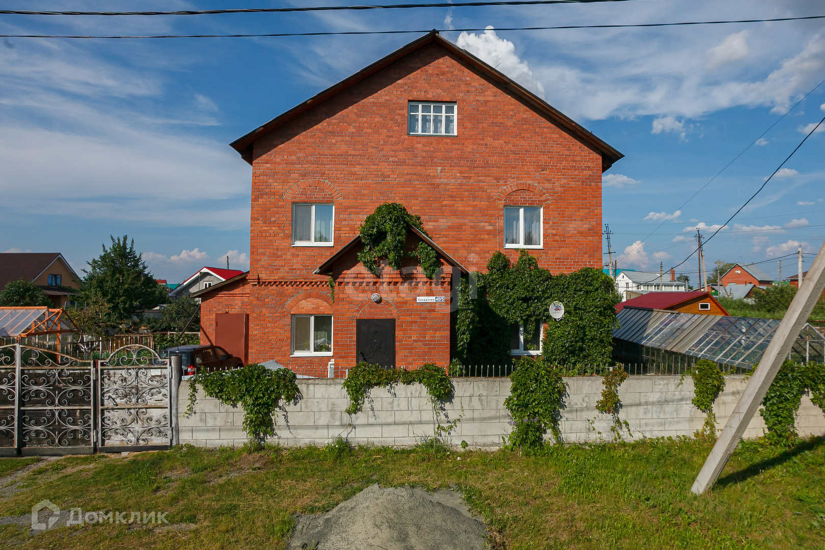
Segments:
[[[600,268],[601,174],[622,157],[435,32],[232,146],[252,165],[250,270],[194,294],[205,336],[243,333],[248,360],[312,376],[332,359],[336,376],[360,359],[446,366],[451,294],[494,251]],[[357,261],[385,202],[421,216],[431,239],[408,246],[428,242],[442,274]]]

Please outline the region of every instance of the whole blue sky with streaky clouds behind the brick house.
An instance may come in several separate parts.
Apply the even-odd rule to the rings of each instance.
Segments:
[[[243,7],[346,2],[265,2]],[[380,2],[391,3],[391,2]],[[3,2],[31,9],[30,2]],[[100,2],[38,2],[41,10]],[[237,2],[106,2],[107,10]],[[0,16],[0,34],[206,34],[544,26],[825,15],[816,0],[638,0],[542,7],[223,16]],[[446,32],[626,157],[604,179],[619,266],[691,252],[825,115],[825,22]],[[205,40],[0,40],[0,251],[62,251],[76,270],[128,234],[153,275],[247,269],[251,168],[228,143],[417,35]],[[814,134],[705,248],[716,260],[814,253],[825,227],[825,133]],[[686,203],[686,204],[685,204]],[[651,233],[667,216],[661,228]],[[806,256],[805,266],[813,256]],[[695,257],[679,272],[695,282]],[[691,271],[693,273],[691,273]],[[795,258],[783,259],[783,275]]]

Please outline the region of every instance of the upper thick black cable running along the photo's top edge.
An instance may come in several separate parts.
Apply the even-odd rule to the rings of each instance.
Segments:
[[[344,12],[367,10],[400,10],[417,7],[483,7],[483,6],[540,6],[544,4],[597,4],[606,2],[635,2],[636,0],[512,0],[502,2],[429,2],[423,4],[387,4],[385,6],[314,6],[314,7],[241,7],[219,10],[178,10],[175,12],[41,12],[33,10],[0,10],[0,15],[25,16],[203,16],[227,13],[289,13],[289,12]]]

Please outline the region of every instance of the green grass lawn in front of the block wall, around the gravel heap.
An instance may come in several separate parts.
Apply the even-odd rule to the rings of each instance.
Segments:
[[[747,444],[714,491],[693,496],[709,449],[702,440],[650,440],[530,456],[187,447],[68,457],[28,473],[25,491],[0,497],[0,517],[48,498],[64,509],[168,510],[173,529],[97,524],[29,538],[7,525],[0,539],[21,548],[283,548],[295,513],[329,510],[378,482],[460,487],[497,548],[825,549],[825,440],[785,451]],[[0,458],[0,472],[14,460]]]

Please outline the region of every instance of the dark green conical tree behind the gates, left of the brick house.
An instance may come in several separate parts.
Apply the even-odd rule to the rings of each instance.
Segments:
[[[103,322],[117,325],[128,322],[141,309],[154,308],[166,300],[166,288],[155,282],[141,255],[134,250],[134,239],[111,238],[111,247],[87,261],[89,270],[81,280],[81,297],[87,302],[101,299],[108,305]]]

